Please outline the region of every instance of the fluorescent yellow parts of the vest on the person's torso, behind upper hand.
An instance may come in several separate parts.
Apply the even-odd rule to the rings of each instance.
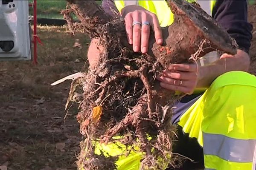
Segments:
[[[196,0],[187,0],[189,3],[195,2]],[[125,7],[124,0],[114,0],[116,8],[119,12]],[[215,5],[216,0],[211,0],[210,10]],[[138,5],[142,6],[146,10],[157,15],[161,27],[172,25],[174,21],[174,15],[165,0],[138,0]]]

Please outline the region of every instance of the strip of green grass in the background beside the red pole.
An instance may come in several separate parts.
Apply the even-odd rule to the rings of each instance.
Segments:
[[[29,0],[32,3],[32,0]],[[101,4],[101,0],[97,3]],[[65,0],[37,0],[37,16],[38,18],[63,19],[60,14],[62,9],[66,8]],[[33,9],[29,8],[29,14],[33,14]]]

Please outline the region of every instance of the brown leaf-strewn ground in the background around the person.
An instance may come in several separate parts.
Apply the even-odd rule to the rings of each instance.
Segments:
[[[254,26],[250,72],[256,75],[256,5],[249,7],[248,20]],[[44,43],[38,65],[0,62],[0,169],[76,170],[82,137],[77,106],[64,110],[70,81],[50,84],[84,69],[89,40],[64,27],[40,26],[38,36]]]

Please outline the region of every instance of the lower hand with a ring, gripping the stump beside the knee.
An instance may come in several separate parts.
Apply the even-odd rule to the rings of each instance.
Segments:
[[[198,68],[196,63],[172,64],[157,79],[163,88],[192,94],[198,82]]]

